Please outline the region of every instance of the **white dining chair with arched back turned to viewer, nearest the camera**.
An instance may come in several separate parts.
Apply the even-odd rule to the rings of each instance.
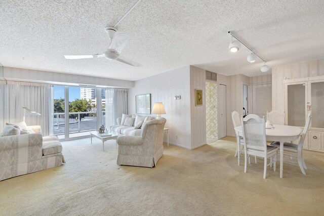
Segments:
[[[277,147],[268,146],[265,134],[265,120],[255,114],[241,116],[242,134],[244,140],[245,164],[244,172],[247,172],[247,160],[251,155],[264,158],[263,179],[266,178],[267,166],[273,164],[276,170]],[[270,163],[268,164],[268,158]]]

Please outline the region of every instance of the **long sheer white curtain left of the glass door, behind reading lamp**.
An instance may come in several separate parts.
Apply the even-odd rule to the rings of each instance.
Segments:
[[[42,116],[26,115],[27,125],[41,125],[43,136],[53,134],[53,87],[50,84],[7,81],[0,82],[0,131],[7,122],[23,121],[24,109]]]

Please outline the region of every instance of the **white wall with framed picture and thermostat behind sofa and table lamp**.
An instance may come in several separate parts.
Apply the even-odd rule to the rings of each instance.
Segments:
[[[144,79],[136,80],[128,95],[128,113],[135,113],[135,96],[151,94],[151,108],[154,102],[162,102],[166,113],[169,142],[191,149],[190,124],[190,66],[184,66]],[[174,96],[180,95],[180,100]],[[176,135],[178,139],[176,139]],[[206,134],[204,135],[206,139]]]

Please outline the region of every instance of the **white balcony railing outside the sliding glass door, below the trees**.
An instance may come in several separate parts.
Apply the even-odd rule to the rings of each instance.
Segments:
[[[65,134],[65,113],[54,113],[54,134]],[[105,124],[105,111],[102,111],[100,124]],[[97,130],[97,112],[69,112],[69,134]]]

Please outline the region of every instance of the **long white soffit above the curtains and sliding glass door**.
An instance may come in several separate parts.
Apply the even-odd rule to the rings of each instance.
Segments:
[[[134,81],[109,79],[95,76],[83,76],[78,74],[57,73],[41,70],[29,70],[22,68],[3,67],[1,76],[7,80],[41,82],[65,85],[97,85],[98,87],[117,87],[117,88],[133,88]]]

